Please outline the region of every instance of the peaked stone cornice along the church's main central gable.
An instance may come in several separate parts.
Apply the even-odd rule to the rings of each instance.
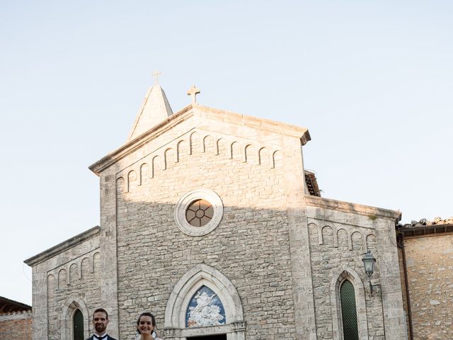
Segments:
[[[168,117],[162,123],[159,123],[154,128],[151,128],[139,137],[134,138],[130,142],[111,152],[107,156],[100,159],[98,162],[91,164],[88,168],[93,171],[96,175],[100,175],[102,171],[112,166],[117,161],[126,157],[131,152],[142,147],[147,142],[154,140],[159,135],[164,134],[166,131],[171,130],[174,126],[188,120],[190,117],[197,115],[201,118],[207,118],[212,120],[218,120],[225,123],[248,126],[250,128],[256,128],[266,130],[279,135],[287,135],[290,137],[299,138],[302,145],[311,140],[309,130],[306,128],[299,128],[296,125],[289,125],[285,123],[277,123],[273,120],[266,120],[251,117],[248,115],[241,115],[239,113],[232,113],[229,111],[219,110],[215,108],[208,108],[207,106],[200,106],[197,104],[191,104]]]

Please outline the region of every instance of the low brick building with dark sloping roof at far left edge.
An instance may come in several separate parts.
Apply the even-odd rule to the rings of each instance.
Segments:
[[[32,312],[29,305],[0,296],[0,340],[31,340]]]

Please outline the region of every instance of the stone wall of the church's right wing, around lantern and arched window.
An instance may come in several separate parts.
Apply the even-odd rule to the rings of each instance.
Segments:
[[[345,279],[355,288],[360,339],[404,339],[396,239],[391,238],[394,220],[377,216],[377,208],[366,211],[371,207],[351,203],[344,212],[335,200],[309,198],[309,204],[313,204],[307,207],[307,217],[318,339],[343,339],[339,288]],[[328,205],[335,209],[326,209]],[[362,263],[367,250],[377,259],[372,295]]]

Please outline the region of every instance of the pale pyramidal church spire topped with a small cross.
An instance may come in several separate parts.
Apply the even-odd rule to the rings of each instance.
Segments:
[[[157,77],[159,77],[159,74],[161,73],[154,72],[153,74],[156,77],[156,84],[148,89],[127,141],[142,135],[142,133],[147,132],[173,114],[167,96],[158,84]]]

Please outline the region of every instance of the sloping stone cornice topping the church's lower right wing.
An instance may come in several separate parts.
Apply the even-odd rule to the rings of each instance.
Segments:
[[[398,222],[401,220],[401,212],[383,208],[376,208],[369,205],[344,202],[343,200],[332,200],[330,198],[322,198],[316,196],[305,196],[306,205],[316,208],[324,208],[338,210],[342,212],[350,212],[353,214],[365,215],[372,218],[383,218]]]

